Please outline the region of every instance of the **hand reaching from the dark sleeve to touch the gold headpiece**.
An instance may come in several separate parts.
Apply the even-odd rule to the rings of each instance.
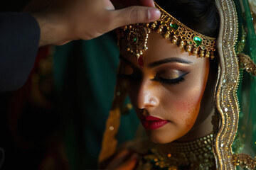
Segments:
[[[120,26],[148,23],[160,17],[153,0],[113,2],[129,7],[115,10],[110,0],[34,0],[25,11],[31,12],[39,23],[40,46],[90,40]]]

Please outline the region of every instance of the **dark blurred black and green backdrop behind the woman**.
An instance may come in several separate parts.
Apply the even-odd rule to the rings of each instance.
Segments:
[[[0,10],[21,11],[28,2],[6,1]],[[26,84],[0,94],[2,169],[97,169],[118,56],[114,32],[41,47]],[[139,123],[130,112],[122,116],[120,143]]]

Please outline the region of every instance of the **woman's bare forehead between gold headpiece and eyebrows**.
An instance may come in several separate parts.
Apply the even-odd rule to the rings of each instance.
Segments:
[[[171,43],[171,40],[166,40],[161,33],[152,31],[149,34],[147,43],[148,50],[144,51],[144,64],[164,60],[166,58],[178,57],[188,62],[198,64],[204,62],[206,58],[198,58],[194,55],[190,55],[183,48],[178,47],[176,44]],[[127,51],[127,40],[122,41],[122,55],[131,62],[137,62],[137,57]]]

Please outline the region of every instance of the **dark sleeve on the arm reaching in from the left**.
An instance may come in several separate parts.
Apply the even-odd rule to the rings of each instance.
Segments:
[[[0,13],[0,91],[26,82],[38,51],[40,28],[28,13]]]

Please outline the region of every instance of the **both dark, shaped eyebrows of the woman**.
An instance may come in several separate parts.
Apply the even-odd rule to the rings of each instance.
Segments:
[[[122,55],[119,55],[119,59],[123,60],[124,62],[127,62],[129,64],[132,64],[134,66],[134,64],[132,62],[130,62],[129,60],[127,60],[126,58],[124,58]],[[159,61],[156,61],[156,62],[151,62],[150,64],[148,64],[148,67],[149,68],[152,68],[152,67],[156,67],[156,66],[159,66],[161,64],[166,64],[168,62],[179,62],[179,63],[183,63],[183,64],[191,64],[193,62],[191,61],[188,61],[188,60],[185,60],[183,58],[179,58],[179,57],[170,57],[170,58],[166,58],[166,59],[163,59],[163,60],[159,60]]]

